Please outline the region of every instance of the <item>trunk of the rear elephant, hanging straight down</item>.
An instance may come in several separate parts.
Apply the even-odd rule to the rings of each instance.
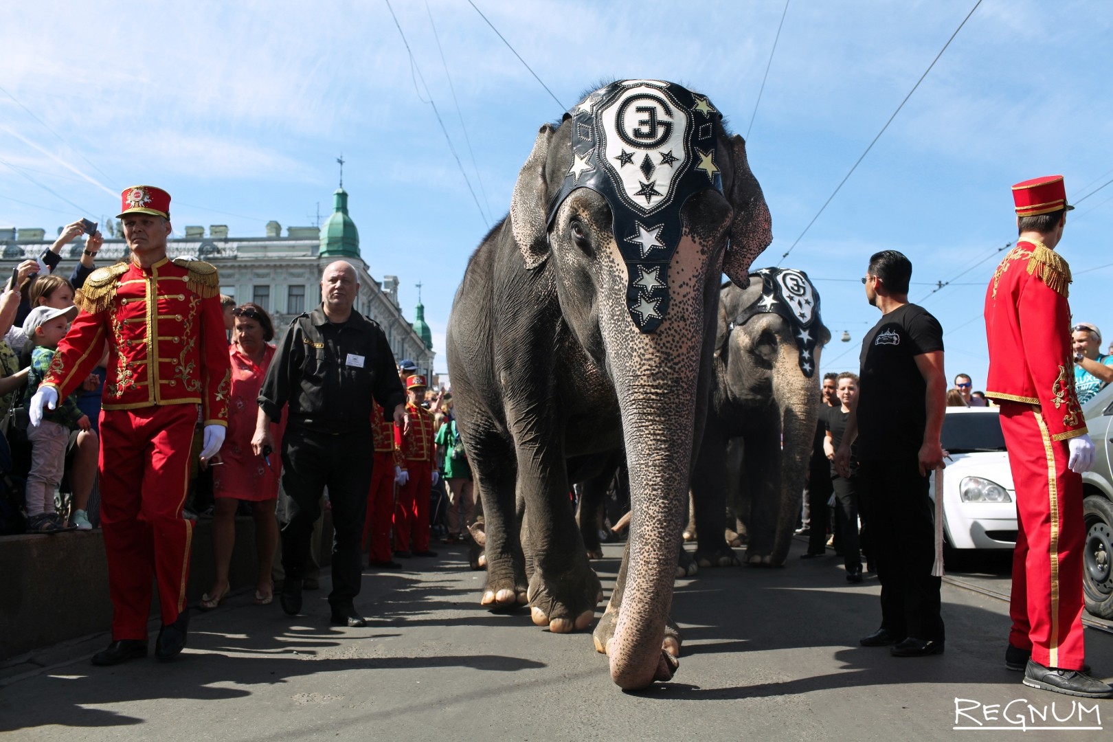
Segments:
[[[772,373],[774,398],[780,405],[781,457],[780,496],[777,498],[776,531],[770,563],[780,565],[788,556],[792,528],[800,513],[811,444],[819,419],[818,372],[809,378],[800,370],[800,355],[791,342],[778,346]],[[818,368],[818,358],[811,359]]]

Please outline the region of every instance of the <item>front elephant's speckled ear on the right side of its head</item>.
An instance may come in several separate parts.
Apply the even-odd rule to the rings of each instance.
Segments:
[[[730,150],[735,171],[728,199],[735,217],[730,222],[730,245],[722,260],[722,271],[736,286],[746,288],[750,284],[750,266],[772,241],[772,218],[761,186],[750,171],[746,140],[735,135],[730,138]]]

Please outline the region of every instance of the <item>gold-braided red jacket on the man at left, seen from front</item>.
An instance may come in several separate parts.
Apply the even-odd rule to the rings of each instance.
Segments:
[[[200,260],[98,268],[75,297],[80,311],[43,384],[66,397],[107,344],[101,407],[196,404],[205,425],[227,425],[230,366],[219,290],[216,268]]]

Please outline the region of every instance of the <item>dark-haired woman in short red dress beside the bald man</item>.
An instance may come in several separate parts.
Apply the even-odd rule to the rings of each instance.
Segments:
[[[274,597],[270,563],[278,542],[275,503],[278,498],[278,477],[282,459],[277,453],[266,461],[252,453],[252,435],[258,413],[256,399],[275,355],[274,325],[266,310],[248,301],[232,310],[235,327],[228,346],[232,360],[232,389],[228,406],[228,432],[224,446],[213,465],[213,551],[216,557],[216,578],[213,588],[201,596],[201,609],[211,610],[220,604],[232,590],[228,584],[228,565],[236,541],[236,509],[239,501],[252,503],[255,518],[255,548],[258,553],[259,573],[255,586],[256,605],[267,605]],[[282,441],[282,425],[272,425],[276,447]]]

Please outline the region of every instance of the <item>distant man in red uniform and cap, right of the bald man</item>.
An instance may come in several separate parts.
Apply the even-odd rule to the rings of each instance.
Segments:
[[[434,431],[433,414],[421,406],[425,396],[425,377],[406,379],[408,399],[406,415],[410,431],[394,428],[394,442],[402,451],[405,467],[398,486],[398,504],[394,507],[394,553],[396,556],[436,556],[429,548],[429,501],[433,489]]]

